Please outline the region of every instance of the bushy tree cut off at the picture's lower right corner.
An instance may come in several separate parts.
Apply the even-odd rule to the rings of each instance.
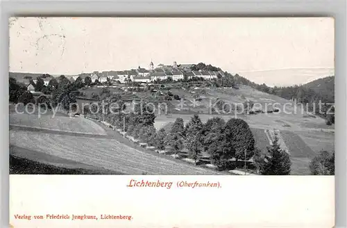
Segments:
[[[334,175],[335,152],[319,152],[310,162],[310,170],[312,175]]]

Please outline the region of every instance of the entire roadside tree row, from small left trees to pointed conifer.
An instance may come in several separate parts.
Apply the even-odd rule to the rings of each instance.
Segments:
[[[140,108],[138,106],[137,108]],[[289,174],[291,162],[289,155],[282,151],[277,143],[269,148],[269,156],[264,156],[255,148],[255,140],[248,124],[241,119],[230,119],[228,122],[220,117],[214,117],[205,124],[198,115],[194,115],[187,124],[182,118],[177,118],[170,131],[155,130],[153,126],[155,115],[146,111],[130,114],[112,114],[106,117],[111,124],[122,129],[125,124],[126,133],[135,139],[146,142],[159,150],[169,146],[171,152],[177,154],[187,148],[189,157],[197,161],[203,152],[210,155],[210,161],[219,169],[232,167],[234,161],[248,160],[257,156],[260,174]],[[124,122],[123,122],[124,121]]]

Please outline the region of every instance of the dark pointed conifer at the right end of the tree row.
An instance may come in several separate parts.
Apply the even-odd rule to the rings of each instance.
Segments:
[[[278,136],[268,148],[269,156],[260,161],[260,174],[262,175],[289,175],[291,172],[291,161],[289,154],[283,151],[278,144]]]

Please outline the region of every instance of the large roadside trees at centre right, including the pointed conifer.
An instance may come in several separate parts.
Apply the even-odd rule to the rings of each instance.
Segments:
[[[213,117],[203,124],[198,115],[194,115],[184,125],[183,119],[177,118],[166,136],[161,142],[167,142],[174,152],[186,147],[190,158],[195,161],[202,152],[206,152],[211,163],[220,170],[232,168],[235,162],[248,161],[253,157],[259,174],[288,175],[291,172],[289,154],[280,148],[277,137],[268,152],[261,152],[255,147],[248,124],[241,119],[232,118],[226,122],[220,117]]]

